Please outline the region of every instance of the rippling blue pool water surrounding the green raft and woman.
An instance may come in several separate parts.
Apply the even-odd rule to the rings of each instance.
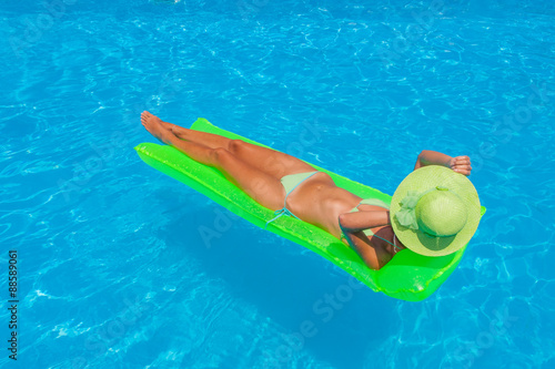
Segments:
[[[555,367],[553,2],[22,0],[0,22],[0,367]],[[432,297],[392,299],[141,162],[143,110],[389,194],[421,150],[470,155],[488,211]]]

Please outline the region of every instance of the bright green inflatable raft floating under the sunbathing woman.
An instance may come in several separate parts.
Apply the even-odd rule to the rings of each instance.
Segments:
[[[191,129],[216,133],[230,139],[240,139],[268,147],[219,129],[205,119],[198,119]],[[261,228],[264,227],[269,219],[274,217],[273,211],[261,206],[249,197],[218,170],[191,160],[172,146],[142,143],[134,148],[139,156],[150,166],[183,182]],[[362,198],[374,197],[387,204],[391,203],[390,195],[312,163],[309,164],[330,174],[337,186]],[[484,213],[485,207],[482,207],[482,215]],[[294,217],[282,216],[270,223],[266,229],[320,254],[374,291],[381,291],[387,296],[407,301],[420,301],[432,295],[453,273],[466,249],[465,246],[454,254],[442,257],[426,257],[410,249],[403,249],[382,269],[372,270],[349,246],[327,232],[309,223]]]

